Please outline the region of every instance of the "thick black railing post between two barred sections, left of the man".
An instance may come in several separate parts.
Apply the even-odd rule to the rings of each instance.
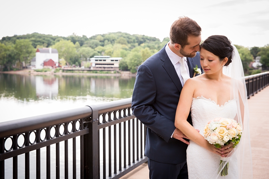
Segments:
[[[89,106],[92,109],[92,118],[89,122],[89,133],[84,135],[84,178],[97,179],[98,171],[98,108],[95,105]]]

